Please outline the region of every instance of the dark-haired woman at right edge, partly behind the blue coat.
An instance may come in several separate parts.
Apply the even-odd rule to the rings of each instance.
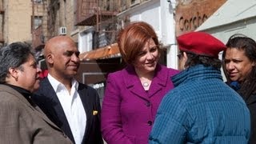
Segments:
[[[245,100],[250,110],[250,143],[256,143],[256,42],[243,34],[232,35],[223,53],[227,83]]]

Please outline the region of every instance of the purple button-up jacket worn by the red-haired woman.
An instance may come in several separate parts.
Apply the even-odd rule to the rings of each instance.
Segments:
[[[108,144],[146,144],[163,96],[174,88],[170,77],[178,70],[158,64],[150,85],[143,89],[134,67],[108,75],[102,102],[102,135]]]

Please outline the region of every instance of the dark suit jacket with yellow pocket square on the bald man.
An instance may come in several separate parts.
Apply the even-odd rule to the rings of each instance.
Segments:
[[[86,131],[82,144],[102,144],[102,134],[100,130],[100,112],[101,106],[96,90],[90,86],[79,83],[78,94],[82,100],[82,105],[86,110]],[[54,122],[64,133],[74,142],[70,125],[66,119],[62,105],[54,92],[54,88],[50,85],[48,78],[44,78],[40,83],[40,88],[34,94],[34,102],[42,109],[42,111]],[[93,114],[97,110],[98,114]]]

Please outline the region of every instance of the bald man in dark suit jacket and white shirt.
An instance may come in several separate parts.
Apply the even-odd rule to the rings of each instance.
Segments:
[[[46,42],[44,57],[49,74],[33,97],[34,102],[76,144],[100,144],[100,103],[93,88],[74,79],[79,51],[67,36]]]

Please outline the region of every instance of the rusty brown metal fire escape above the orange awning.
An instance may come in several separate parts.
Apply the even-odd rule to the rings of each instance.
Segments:
[[[94,26],[94,48],[115,41],[119,0],[78,0],[77,26]]]

